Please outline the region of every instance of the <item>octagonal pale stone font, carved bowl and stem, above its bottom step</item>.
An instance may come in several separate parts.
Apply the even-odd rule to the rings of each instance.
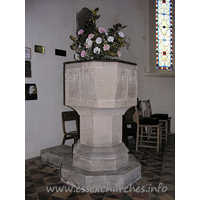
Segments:
[[[137,104],[136,64],[68,62],[64,73],[65,105],[80,115],[73,166],[91,172],[114,172],[127,166],[130,158],[122,143],[122,115]],[[65,178],[71,177],[70,173]]]

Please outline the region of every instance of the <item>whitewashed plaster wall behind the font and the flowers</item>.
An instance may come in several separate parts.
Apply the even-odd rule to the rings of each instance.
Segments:
[[[139,99],[151,99],[153,112],[167,112],[173,117],[174,79],[145,77],[149,67],[148,0],[26,0],[25,45],[32,49],[32,78],[38,100],[25,103],[26,159],[40,155],[40,150],[61,144],[63,133],[61,112],[70,110],[63,105],[63,62],[73,60],[70,35],[75,36],[75,13],[83,7],[99,7],[97,26],[111,28],[116,23],[124,29],[129,50],[122,49],[122,59],[138,64]],[[45,46],[45,54],[34,52],[34,45]],[[64,49],[67,57],[55,56]],[[173,79],[173,80],[172,80]],[[66,144],[71,144],[67,141]]]

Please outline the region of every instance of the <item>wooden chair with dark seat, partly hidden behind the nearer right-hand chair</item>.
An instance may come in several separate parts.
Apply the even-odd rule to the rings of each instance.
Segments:
[[[171,117],[169,117],[168,114],[163,114],[163,113],[152,114],[150,100],[149,99],[144,100],[143,102],[145,102],[145,105],[146,105],[146,109],[144,111],[144,116],[145,117],[157,117],[160,122],[163,122],[162,130],[164,132],[164,135],[162,134],[162,139],[165,139],[165,143],[167,143],[167,134],[168,134],[168,132],[170,132],[169,130],[170,130]]]

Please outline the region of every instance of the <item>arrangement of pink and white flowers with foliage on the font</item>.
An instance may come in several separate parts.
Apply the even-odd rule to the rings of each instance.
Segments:
[[[106,30],[103,27],[96,27],[96,20],[99,8],[89,10],[89,19],[85,28],[77,32],[77,38],[70,36],[73,44],[70,46],[75,50],[76,60],[112,59],[121,56],[120,48],[126,44],[124,33],[121,31],[127,26],[120,23],[113,25],[113,28]]]

